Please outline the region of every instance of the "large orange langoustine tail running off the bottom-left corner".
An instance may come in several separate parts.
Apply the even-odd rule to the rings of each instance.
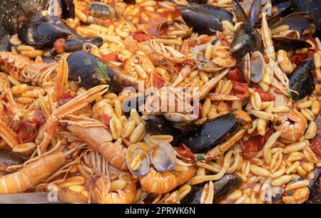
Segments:
[[[67,147],[57,145],[47,154],[34,157],[34,160],[22,170],[0,177],[0,194],[24,192],[39,185],[71,162],[72,153],[77,149],[74,147],[69,150]]]

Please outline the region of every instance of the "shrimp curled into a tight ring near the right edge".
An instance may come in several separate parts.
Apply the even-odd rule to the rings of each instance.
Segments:
[[[307,120],[300,113],[291,110],[289,113],[281,113],[278,115],[279,121],[274,126],[276,131],[282,131],[280,136],[283,140],[295,142],[305,134],[307,128]],[[280,123],[280,124],[278,124]]]

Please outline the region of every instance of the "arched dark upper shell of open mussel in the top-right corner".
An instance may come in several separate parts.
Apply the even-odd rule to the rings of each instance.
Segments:
[[[312,36],[315,33],[315,18],[311,14],[295,12],[280,19],[270,26],[271,29],[278,26],[288,26],[292,31],[298,31],[302,40]]]

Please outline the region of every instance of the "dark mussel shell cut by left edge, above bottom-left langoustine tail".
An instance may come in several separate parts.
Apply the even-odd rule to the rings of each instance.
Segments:
[[[11,173],[12,171],[7,169],[10,166],[22,165],[24,158],[16,152],[8,152],[6,150],[0,151],[0,172]]]

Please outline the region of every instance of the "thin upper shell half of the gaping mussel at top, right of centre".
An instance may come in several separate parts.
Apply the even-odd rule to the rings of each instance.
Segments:
[[[210,4],[197,4],[197,5],[189,6],[188,8],[195,11],[203,11],[212,16],[216,16],[221,22],[230,21],[230,23],[233,24],[233,14],[231,14],[229,11],[218,8],[216,6],[213,6]]]

